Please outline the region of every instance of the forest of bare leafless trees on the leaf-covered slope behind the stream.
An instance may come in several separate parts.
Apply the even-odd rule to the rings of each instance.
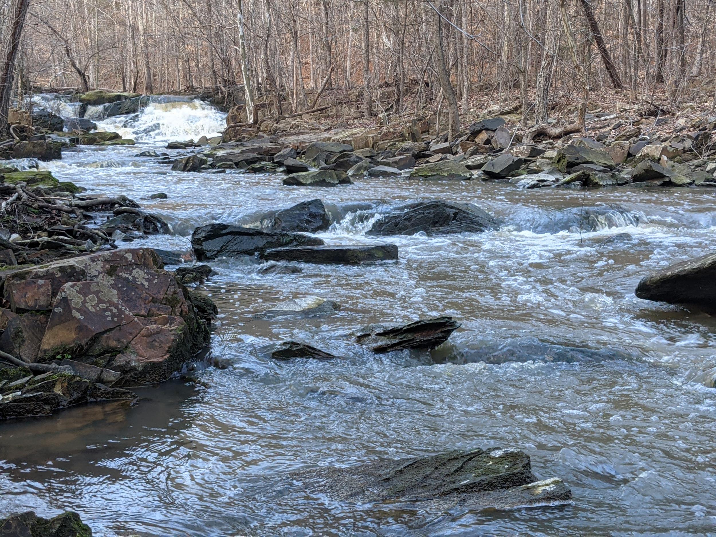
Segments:
[[[16,3],[2,0],[4,36]],[[457,128],[459,110],[488,95],[543,123],[558,92],[712,98],[714,11],[713,0],[32,0],[16,60],[27,87],[226,92],[242,84],[243,14],[248,77],[272,107],[343,90],[366,117],[442,106]]]

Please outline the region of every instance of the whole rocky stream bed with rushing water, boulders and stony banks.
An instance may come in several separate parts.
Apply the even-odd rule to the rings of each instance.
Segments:
[[[0,536],[710,531],[710,118],[218,144],[141,99],[6,146]]]

